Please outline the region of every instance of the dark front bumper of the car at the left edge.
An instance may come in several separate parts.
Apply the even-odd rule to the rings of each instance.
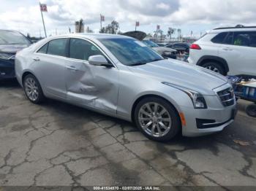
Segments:
[[[15,78],[14,60],[0,59],[0,79]]]

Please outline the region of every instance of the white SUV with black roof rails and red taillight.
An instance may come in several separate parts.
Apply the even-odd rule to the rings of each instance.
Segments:
[[[215,28],[191,45],[188,61],[223,75],[256,77],[256,27]]]

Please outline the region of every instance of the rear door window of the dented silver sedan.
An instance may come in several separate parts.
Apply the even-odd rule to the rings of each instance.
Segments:
[[[49,55],[66,56],[67,39],[55,39],[48,43]]]

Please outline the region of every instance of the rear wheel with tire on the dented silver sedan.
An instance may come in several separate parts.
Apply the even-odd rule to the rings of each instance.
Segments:
[[[40,104],[45,100],[45,95],[42,93],[42,87],[34,75],[28,74],[23,80],[23,90],[26,97],[33,104]]]

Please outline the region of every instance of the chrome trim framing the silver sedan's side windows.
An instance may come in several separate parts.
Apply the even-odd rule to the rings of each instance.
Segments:
[[[40,50],[41,47],[43,47],[45,44],[49,43],[50,41],[52,40],[56,40],[56,39],[82,39],[82,40],[85,40],[87,42],[90,42],[91,44],[94,44],[95,47],[97,47],[99,49],[100,52],[102,52],[103,55],[105,55],[105,57],[108,58],[108,60],[112,63],[113,67],[118,69],[118,67],[116,66],[116,64],[112,61],[112,59],[105,53],[104,50],[102,50],[101,47],[99,47],[99,45],[97,45],[95,42],[93,42],[91,39],[88,39],[88,38],[83,38],[83,37],[77,37],[77,36],[70,36],[70,37],[67,37],[67,36],[63,36],[63,37],[56,37],[56,38],[53,38],[53,39],[49,39],[47,42],[45,42],[44,44],[42,44],[41,46],[39,46],[35,51],[34,51],[34,54],[39,54],[39,55],[48,55],[48,56],[52,56],[53,58],[64,58],[64,59],[67,59],[67,60],[72,60],[72,61],[81,61],[83,63],[89,63],[89,61],[85,61],[85,60],[81,60],[81,59],[76,59],[76,58],[67,58],[66,56],[61,56],[61,55],[50,55],[50,54],[45,54],[45,53],[40,53],[40,52],[37,52],[38,50]],[[69,44],[70,46],[70,44]]]

